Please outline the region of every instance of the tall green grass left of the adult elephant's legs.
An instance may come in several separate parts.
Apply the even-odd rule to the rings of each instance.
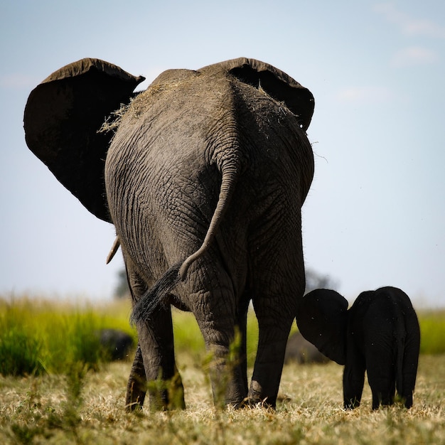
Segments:
[[[122,314],[127,318],[127,311]],[[124,321],[129,330],[129,323]],[[121,328],[99,310],[33,299],[0,299],[0,374],[68,374],[79,365],[98,370],[109,359],[102,328]]]

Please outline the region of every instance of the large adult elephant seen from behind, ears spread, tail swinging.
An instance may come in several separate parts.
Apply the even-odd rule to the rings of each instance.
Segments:
[[[238,58],[144,80],[97,59],[50,75],[28,98],[29,148],[98,218],[114,223],[139,348],[127,406],[145,381],[158,408],[183,407],[171,305],[192,311],[213,354],[213,394],[274,407],[304,293],[301,205],[313,178],[313,96],[267,63]],[[98,132],[119,108],[111,132]],[[247,387],[246,321],[259,323]],[[236,331],[240,354],[227,363]],[[162,383],[163,382],[163,383]],[[223,387],[221,387],[223,382]]]

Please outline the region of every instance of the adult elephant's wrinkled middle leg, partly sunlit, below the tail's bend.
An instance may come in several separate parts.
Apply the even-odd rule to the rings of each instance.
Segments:
[[[229,275],[214,257],[199,259],[189,274],[193,280],[185,285],[184,298],[188,299],[210,357],[214,403],[240,407],[247,396],[247,303],[239,305]]]

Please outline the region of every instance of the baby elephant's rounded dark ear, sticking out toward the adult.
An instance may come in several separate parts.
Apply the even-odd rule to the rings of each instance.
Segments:
[[[296,316],[301,335],[339,365],[345,364],[347,311],[338,292],[316,289],[303,297]]]

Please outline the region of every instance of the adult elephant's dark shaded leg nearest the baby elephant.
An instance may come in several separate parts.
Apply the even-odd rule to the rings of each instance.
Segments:
[[[281,227],[281,226],[279,226]],[[275,227],[270,227],[273,234]],[[297,303],[304,294],[304,264],[299,237],[278,234],[273,244],[252,254],[252,303],[258,321],[258,347],[249,404],[274,408],[284,354]],[[279,242],[281,241],[281,242]],[[253,242],[253,240],[252,240]]]

